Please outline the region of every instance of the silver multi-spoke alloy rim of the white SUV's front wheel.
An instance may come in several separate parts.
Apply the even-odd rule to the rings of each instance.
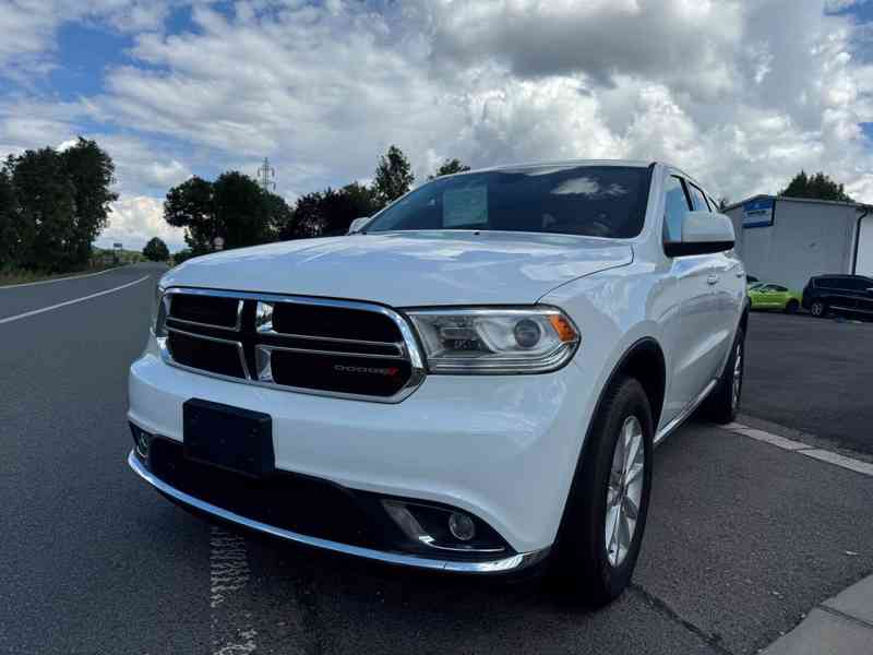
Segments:
[[[646,464],[643,425],[636,416],[624,419],[609,472],[607,488],[607,559],[613,567],[624,561],[636,531],[643,498],[643,472]]]

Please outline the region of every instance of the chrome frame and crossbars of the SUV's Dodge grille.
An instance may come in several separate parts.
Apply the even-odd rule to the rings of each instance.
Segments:
[[[171,306],[172,306],[172,298],[177,294],[187,294],[187,295],[200,295],[200,296],[211,296],[217,298],[235,298],[239,300],[237,307],[237,325],[236,327],[228,327],[222,325],[211,325],[208,323],[192,323],[191,321],[184,321],[171,315]],[[251,370],[249,366],[244,352],[243,352],[243,342],[242,342],[242,313],[243,313],[243,306],[246,301],[254,301],[256,302],[255,306],[255,317],[254,317],[254,337],[253,337],[253,347],[254,347],[254,357],[255,357],[255,368],[256,370]],[[312,306],[312,307],[325,307],[325,308],[334,308],[334,309],[347,309],[347,310],[356,310],[356,311],[368,311],[381,314],[390,319],[394,325],[396,325],[397,330],[400,334],[400,341],[398,342],[372,342],[372,341],[364,341],[364,340],[354,340],[354,338],[339,338],[339,337],[325,337],[319,335],[308,335],[308,334],[294,334],[294,333],[285,333],[285,332],[276,332],[273,330],[272,325],[272,309],[277,303],[296,303],[296,305],[304,305],[304,306]],[[181,330],[179,327],[174,327],[172,325],[167,325],[167,320],[181,323],[183,325],[191,325],[196,327],[205,327],[210,330],[219,330],[227,333],[226,338],[218,338],[212,335],[199,334],[196,332],[190,332],[188,330]],[[176,361],[174,359],[172,354],[170,352],[169,344],[167,342],[167,335],[169,332],[176,332],[183,334],[188,337],[194,338],[203,338],[206,341],[219,342],[227,345],[235,345],[237,346],[240,362],[242,365],[242,371],[244,372],[244,378],[237,378],[234,376],[225,376],[222,373],[216,373],[213,371],[194,368]],[[251,384],[256,386],[264,386],[268,389],[277,389],[283,391],[291,391],[296,393],[303,393],[309,395],[319,395],[319,396],[330,396],[330,397],[339,397],[339,398],[347,398],[347,400],[357,400],[357,401],[368,401],[374,403],[399,403],[407,396],[409,396],[416,389],[418,389],[421,383],[424,381],[424,377],[427,374],[427,369],[424,366],[424,359],[421,354],[421,349],[418,345],[418,341],[416,340],[415,333],[412,332],[411,326],[407,322],[407,320],[397,311],[384,307],[382,305],[376,305],[373,302],[366,302],[366,301],[358,301],[358,300],[334,300],[328,298],[316,298],[316,297],[309,297],[309,296],[292,296],[292,295],[279,295],[279,294],[260,294],[260,293],[251,293],[251,291],[231,291],[231,290],[217,290],[217,289],[203,289],[203,288],[195,288],[195,287],[169,287],[165,289],[162,299],[160,306],[158,308],[158,315],[157,322],[154,330],[155,340],[157,342],[158,350],[160,353],[162,359],[176,368],[187,370],[190,372],[194,372],[201,376],[207,376],[211,378],[217,378],[220,380],[227,380],[230,382],[237,382],[241,384]],[[237,338],[235,338],[237,335]],[[260,343],[260,336],[277,336],[277,337],[288,337],[291,340],[299,340],[299,341],[316,341],[322,344],[324,343],[335,343],[337,345],[336,350],[324,350],[322,348],[288,348],[282,347],[270,343]],[[347,353],[343,350],[344,344],[354,344],[356,346],[379,346],[391,348],[395,352],[395,354],[375,354],[375,355],[368,355],[367,353]],[[338,392],[338,391],[328,391],[328,390],[320,390],[320,389],[309,389],[303,386],[290,386],[287,384],[279,384],[273,381],[272,374],[272,367],[271,367],[271,355],[274,350],[295,350],[301,353],[309,353],[313,355],[318,354],[326,354],[326,355],[336,355],[336,356],[344,356],[348,355],[351,357],[379,357],[382,359],[397,359],[398,361],[407,362],[410,367],[410,374],[406,383],[391,396],[383,396],[383,395],[369,395],[369,394],[359,394],[359,393],[346,393],[346,392]]]

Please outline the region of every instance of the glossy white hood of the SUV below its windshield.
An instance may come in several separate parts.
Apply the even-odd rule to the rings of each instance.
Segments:
[[[163,284],[393,307],[528,305],[565,282],[632,260],[630,246],[588,237],[405,231],[228,250],[183,262]]]

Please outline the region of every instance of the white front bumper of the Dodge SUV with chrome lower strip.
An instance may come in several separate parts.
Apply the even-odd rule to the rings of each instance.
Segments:
[[[385,405],[200,376],[162,361],[154,343],[132,365],[128,417],[139,428],[180,443],[182,404],[192,397],[270,414],[278,471],[469,512],[510,546],[492,560],[392,552],[285,529],[186,493],[135,455],[129,461],[179,502],[292,541],[429,569],[510,571],[538,561],[554,541],[595,386],[573,362],[540,376],[430,376],[404,402]]]

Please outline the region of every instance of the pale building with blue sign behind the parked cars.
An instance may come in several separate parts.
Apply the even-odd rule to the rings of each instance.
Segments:
[[[873,276],[873,205],[755,195],[730,205],[750,275],[801,290],[813,275]]]

